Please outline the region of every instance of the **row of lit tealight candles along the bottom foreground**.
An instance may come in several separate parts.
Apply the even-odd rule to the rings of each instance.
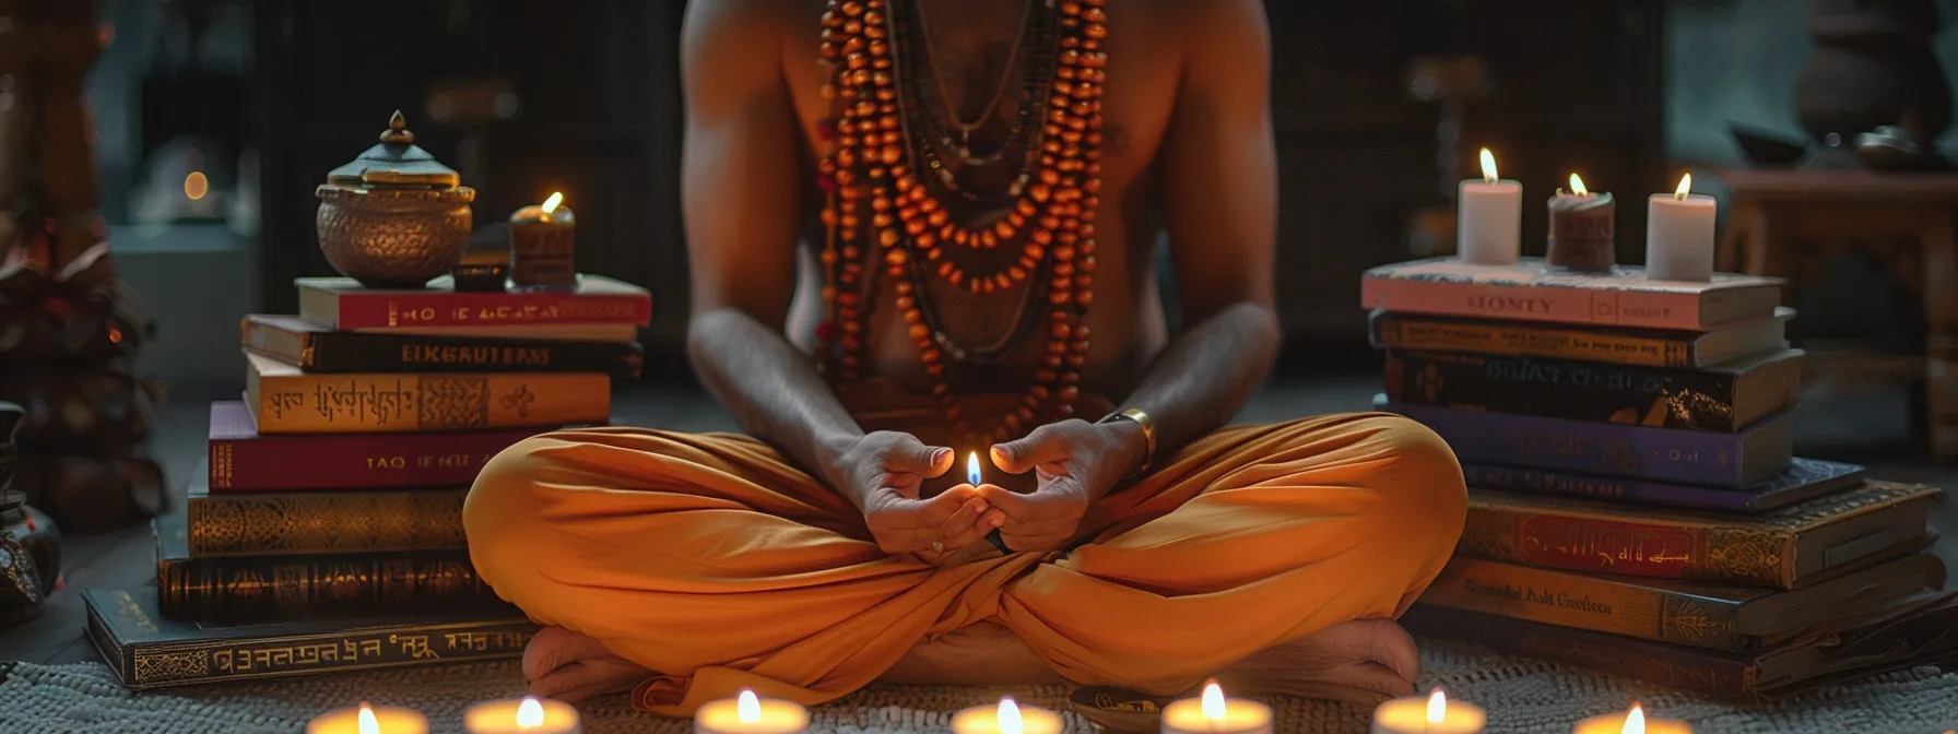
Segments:
[[[1406,697],[1382,703],[1373,712],[1373,734],[1480,734],[1488,716],[1480,707],[1449,701],[1441,689],[1425,699]],[[578,711],[562,701],[488,701],[462,714],[468,734],[580,734]],[[1010,697],[999,705],[959,711],[954,734],[1061,734],[1061,714],[1024,707]],[[809,730],[809,709],[795,701],[764,699],[742,689],[734,699],[707,703],[693,714],[695,734],[801,734]],[[370,707],[333,711],[313,718],[305,734],[427,734],[429,720],[407,709]],[[1163,707],[1163,734],[1271,734],[1271,707],[1230,699],[1216,681],[1196,699]],[[1580,720],[1572,734],[1692,734],[1686,722],[1645,718],[1633,705],[1623,714]]]

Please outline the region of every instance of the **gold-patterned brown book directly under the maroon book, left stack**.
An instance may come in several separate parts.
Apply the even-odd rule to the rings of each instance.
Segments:
[[[249,491],[211,495],[206,466],[190,476],[190,558],[468,550],[470,487],[382,491]]]

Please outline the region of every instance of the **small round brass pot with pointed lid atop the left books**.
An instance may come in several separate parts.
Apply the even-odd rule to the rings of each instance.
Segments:
[[[423,288],[462,258],[476,190],[415,147],[397,110],[380,145],[333,168],[319,198],[319,251],[368,288]]]

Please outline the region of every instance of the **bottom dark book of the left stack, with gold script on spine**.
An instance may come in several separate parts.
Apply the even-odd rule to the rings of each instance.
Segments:
[[[88,640],[129,689],[521,658],[536,624],[515,607],[204,626],[163,617],[157,589],[88,589]]]

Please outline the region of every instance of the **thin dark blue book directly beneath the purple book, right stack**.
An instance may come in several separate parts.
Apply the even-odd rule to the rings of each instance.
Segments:
[[[1463,464],[1470,487],[1535,491],[1545,495],[1596,497],[1635,505],[1709,509],[1758,515],[1827,493],[1862,485],[1868,472],[1856,464],[1795,456],[1788,470],[1739,489],[1696,487],[1570,472],[1527,470],[1492,464]]]

